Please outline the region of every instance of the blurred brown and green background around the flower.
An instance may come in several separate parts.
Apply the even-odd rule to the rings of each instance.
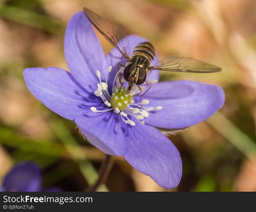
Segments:
[[[27,89],[23,69],[68,70],[65,26],[86,6],[127,34],[154,44],[159,58],[179,55],[222,67],[212,74],[163,73],[160,80],[197,80],[225,90],[225,105],[206,121],[170,136],[183,161],[179,186],[166,190],[114,157],[99,191],[256,191],[255,0],[0,0],[0,182],[10,167],[33,160],[43,187],[84,191],[104,153],[72,121],[47,109]],[[112,48],[97,35],[106,53]],[[1,183],[0,183],[1,184]]]

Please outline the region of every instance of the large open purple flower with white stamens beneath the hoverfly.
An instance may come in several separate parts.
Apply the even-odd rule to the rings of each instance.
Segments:
[[[136,35],[128,39],[131,51],[146,41]],[[81,133],[106,154],[124,157],[162,187],[176,187],[182,176],[179,152],[155,127],[185,128],[205,120],[223,105],[223,90],[182,80],[153,84],[141,102],[140,96],[130,98],[125,90],[119,92],[116,78],[123,69],[118,70],[118,63],[126,61],[116,49],[105,56],[83,12],[67,24],[64,51],[71,73],[55,67],[24,70],[32,94],[55,113],[75,121]],[[159,71],[152,71],[147,80],[157,82]]]

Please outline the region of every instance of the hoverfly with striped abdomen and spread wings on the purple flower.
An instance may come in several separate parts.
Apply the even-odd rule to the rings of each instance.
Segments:
[[[158,64],[151,65],[151,62],[155,57],[155,49],[150,42],[138,44],[133,49],[132,55],[129,55],[127,53],[127,50],[129,49],[129,41],[126,39],[125,33],[123,33],[114,23],[100,15],[97,15],[88,8],[83,8],[83,12],[93,26],[95,26],[95,28],[122,54],[122,56],[126,58],[127,64],[121,75],[123,75],[123,78],[128,82],[127,94],[129,94],[131,88],[135,85],[138,86],[141,93],[142,90],[139,85],[142,85],[144,82],[149,85],[149,88],[147,89],[148,91],[151,84],[150,82],[147,82],[146,78],[147,74],[151,70],[195,73],[221,71],[221,68],[217,66],[193,58],[184,58],[179,56],[166,56],[160,60]],[[121,80],[120,84],[122,86]],[[145,93],[147,91],[145,91]]]

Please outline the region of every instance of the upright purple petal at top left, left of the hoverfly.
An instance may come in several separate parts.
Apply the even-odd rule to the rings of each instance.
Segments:
[[[106,78],[106,70],[102,70],[106,67],[105,54],[92,24],[83,12],[74,14],[67,24],[64,53],[70,72],[89,92],[95,90],[91,85],[98,83],[96,70],[101,71],[103,79]]]

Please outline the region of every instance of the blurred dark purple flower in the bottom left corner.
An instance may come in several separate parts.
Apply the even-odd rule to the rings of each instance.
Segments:
[[[32,163],[14,166],[3,179],[4,191],[40,191],[41,170]]]

